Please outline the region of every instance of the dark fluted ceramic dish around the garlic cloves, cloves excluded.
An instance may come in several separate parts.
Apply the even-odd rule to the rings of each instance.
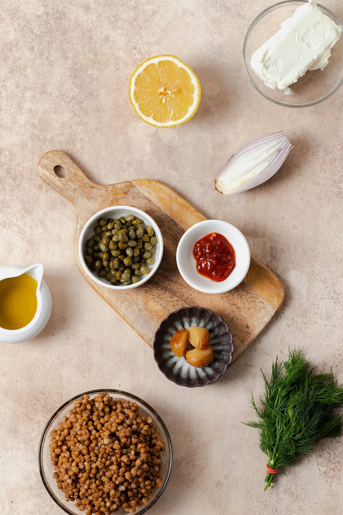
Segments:
[[[213,361],[204,368],[189,365],[184,357],[177,357],[170,348],[175,331],[190,326],[208,329],[210,345],[214,351]],[[232,334],[224,320],[204,307],[182,307],[165,318],[156,331],[153,343],[154,359],[158,368],[170,381],[177,385],[193,388],[214,383],[231,362]]]

